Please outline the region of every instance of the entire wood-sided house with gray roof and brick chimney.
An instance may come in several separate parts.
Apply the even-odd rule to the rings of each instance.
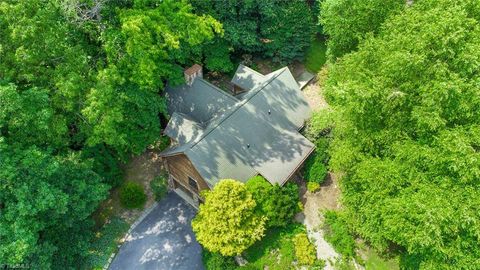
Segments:
[[[198,204],[220,179],[291,179],[315,146],[299,132],[311,110],[288,67],[262,75],[240,65],[234,95],[202,77],[194,65],[186,84],[166,89],[172,145],[161,156],[170,188]]]

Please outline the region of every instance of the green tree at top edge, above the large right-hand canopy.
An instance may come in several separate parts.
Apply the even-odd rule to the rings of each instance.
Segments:
[[[320,21],[328,36],[330,60],[355,50],[367,33],[377,33],[382,23],[404,6],[405,0],[323,1]]]

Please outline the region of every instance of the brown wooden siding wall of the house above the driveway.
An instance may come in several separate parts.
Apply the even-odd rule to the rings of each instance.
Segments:
[[[165,157],[168,172],[173,176],[175,180],[180,182],[184,187],[188,188],[192,193],[197,193],[193,188],[190,188],[188,184],[188,177],[190,176],[197,181],[199,191],[204,189],[210,189],[203,180],[202,176],[197,172],[193,164],[190,162],[187,156],[179,154],[175,156]]]

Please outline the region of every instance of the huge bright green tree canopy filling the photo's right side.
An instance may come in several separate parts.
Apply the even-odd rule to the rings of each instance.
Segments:
[[[402,267],[479,268],[480,4],[414,2],[330,69],[330,165],[356,233]]]

